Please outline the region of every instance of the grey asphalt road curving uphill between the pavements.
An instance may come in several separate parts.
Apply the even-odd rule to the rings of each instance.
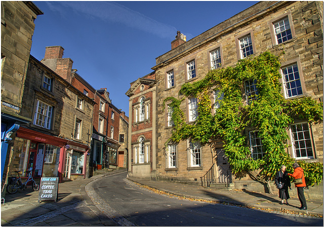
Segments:
[[[320,218],[263,212],[223,204],[177,199],[143,189],[127,172],[99,178],[89,187],[96,206],[117,225],[139,226],[323,226]]]

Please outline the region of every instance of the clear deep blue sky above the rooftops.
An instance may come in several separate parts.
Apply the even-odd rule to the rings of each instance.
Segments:
[[[128,116],[130,83],[152,72],[171,50],[177,31],[187,40],[257,2],[38,2],[31,55],[61,46],[63,58],[95,89],[107,87],[112,104]]]

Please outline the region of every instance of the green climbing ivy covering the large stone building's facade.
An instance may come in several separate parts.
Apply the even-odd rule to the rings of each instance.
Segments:
[[[211,70],[206,77],[185,83],[179,91],[180,97],[198,98],[198,117],[194,124],[187,124],[180,104],[184,98],[169,97],[172,119],[175,123],[171,138],[166,142],[179,143],[186,139],[200,141],[202,145],[224,141],[223,150],[233,173],[247,172],[256,180],[268,184],[282,164],[293,172],[294,159],[286,149],[289,136],[287,130],[294,119],[307,119],[310,124],[323,121],[323,105],[310,97],[285,99],[280,91],[279,57],[264,52],[257,57],[240,60],[235,67]],[[246,105],[244,81],[255,79],[259,94]],[[212,114],[213,90],[224,94],[220,107]],[[164,103],[165,104],[165,103]],[[249,145],[249,130],[258,130],[262,138],[263,158],[253,159]],[[307,185],[320,183],[323,176],[322,163],[299,162],[305,170]],[[269,189],[271,192],[271,189]]]

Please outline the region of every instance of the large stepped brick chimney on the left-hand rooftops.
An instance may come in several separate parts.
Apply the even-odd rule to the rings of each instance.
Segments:
[[[62,58],[63,54],[64,49],[61,46],[46,47],[45,57],[41,62],[71,83],[73,61]]]

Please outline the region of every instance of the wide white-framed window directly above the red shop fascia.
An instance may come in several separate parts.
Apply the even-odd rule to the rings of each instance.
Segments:
[[[34,125],[51,129],[53,109],[51,105],[37,100]]]

